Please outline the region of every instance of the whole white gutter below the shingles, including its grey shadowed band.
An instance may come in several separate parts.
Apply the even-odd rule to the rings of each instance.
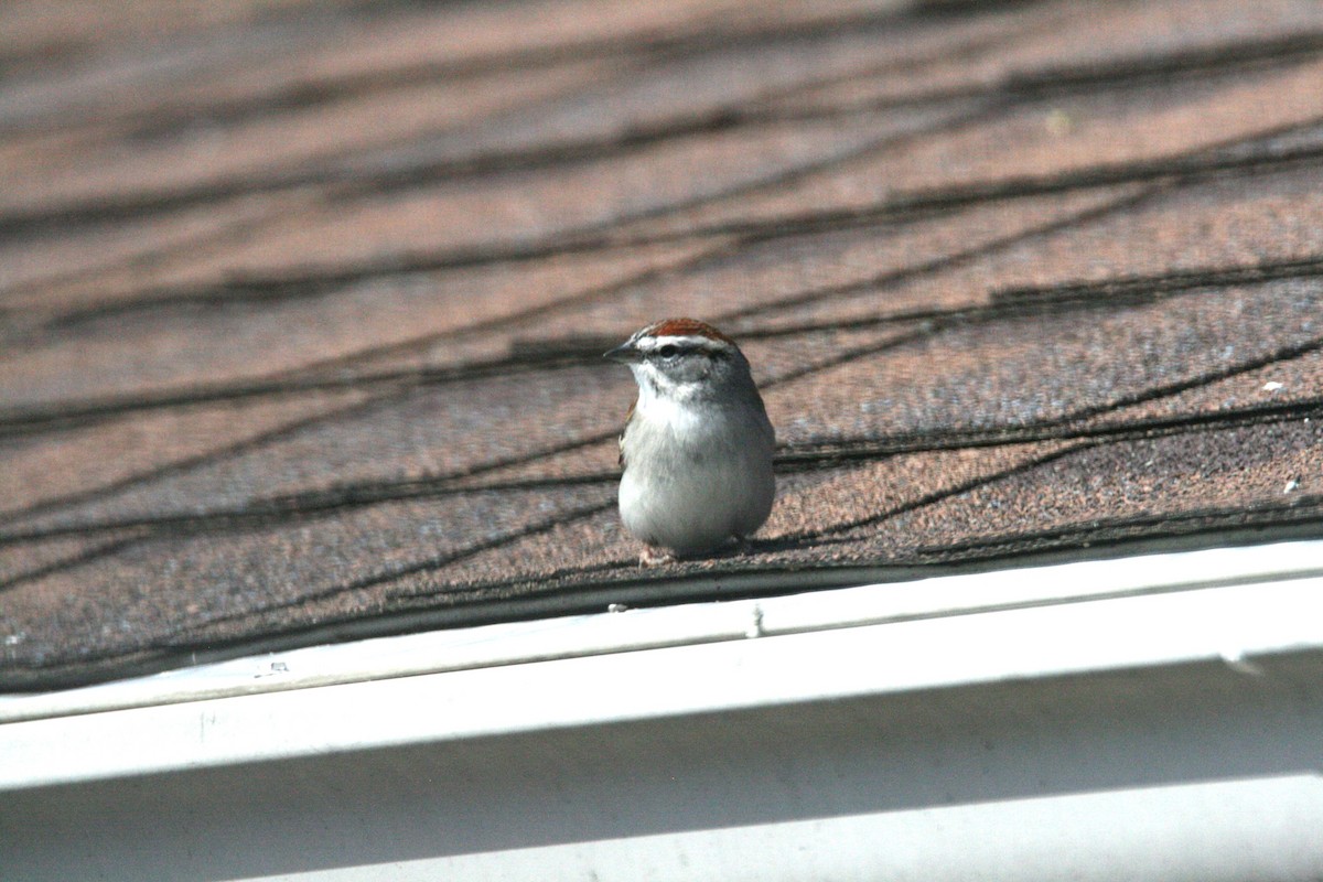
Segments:
[[[1318,878],[1320,565],[1319,542],[1072,563],[12,697],[0,867]]]

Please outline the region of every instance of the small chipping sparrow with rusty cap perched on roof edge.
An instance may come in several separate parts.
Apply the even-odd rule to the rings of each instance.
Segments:
[[[744,353],[712,325],[667,319],[606,357],[639,383],[620,434],[620,520],[646,545],[640,561],[744,542],[777,495],[777,438]]]

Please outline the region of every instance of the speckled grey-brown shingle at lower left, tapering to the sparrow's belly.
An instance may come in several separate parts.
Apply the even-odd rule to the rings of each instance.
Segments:
[[[161,534],[22,586],[21,666],[67,664],[168,644],[189,628],[279,610],[306,621],[304,599],[441,566],[475,549],[601,508],[603,488],[467,493],[386,502],[282,526]],[[85,586],[95,584],[95,592]],[[205,591],[181,591],[206,584]],[[370,604],[369,604],[370,606]],[[112,611],[112,612],[111,612]],[[360,610],[361,611],[361,610]]]

